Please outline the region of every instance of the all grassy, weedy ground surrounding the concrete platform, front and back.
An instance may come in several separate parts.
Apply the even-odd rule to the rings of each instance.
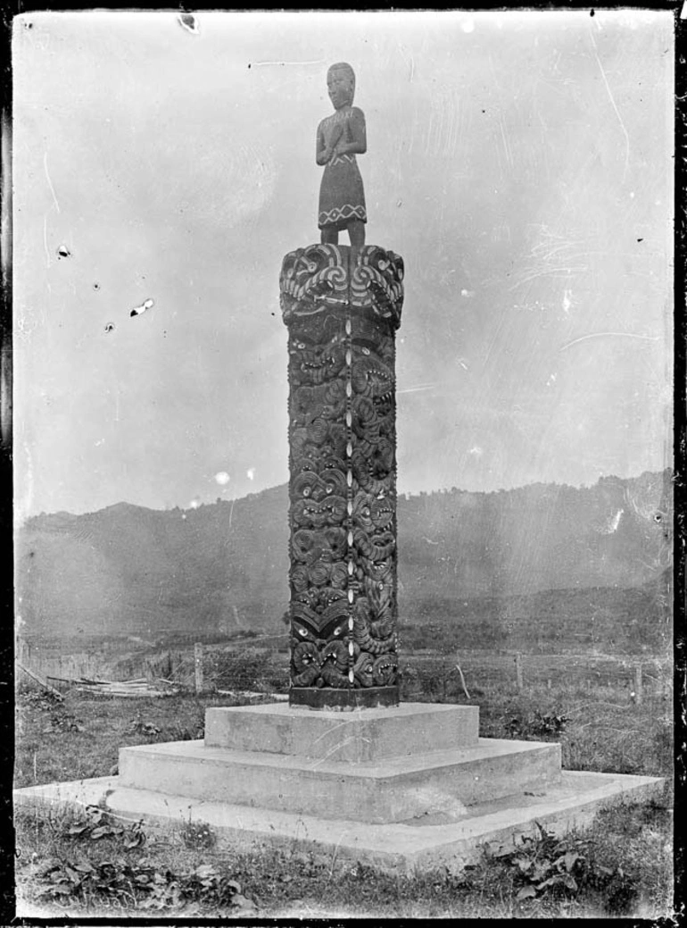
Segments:
[[[436,680],[427,677],[427,680]],[[480,681],[481,682],[481,681]],[[406,700],[467,702],[456,683],[441,692],[411,675]],[[102,810],[56,813],[19,808],[16,816],[20,910],[38,915],[205,915],[294,917],[658,918],[671,912],[670,706],[636,705],[612,687],[575,680],[517,693],[510,680],[479,690],[481,734],[561,741],[564,767],[663,776],[660,802],[600,814],[591,831],[537,842],[506,857],[484,857],[460,877],[446,872],[390,876],[360,863],[324,866],[303,854],[265,849],[236,854],[193,828],[161,837],[117,830]],[[436,688],[435,688],[436,689]],[[237,701],[236,701],[237,702]],[[227,697],[126,700],[70,691],[63,702],[39,690],[18,696],[17,786],[116,772],[127,744],[197,739],[210,705]],[[100,830],[100,831],[98,831]]]

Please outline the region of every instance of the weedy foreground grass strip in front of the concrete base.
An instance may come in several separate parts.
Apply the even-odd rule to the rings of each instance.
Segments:
[[[548,919],[672,911],[670,817],[655,802],[602,813],[591,831],[562,840],[542,831],[458,876],[395,875],[269,848],[236,853],[209,840],[209,827],[198,846],[198,822],[193,833],[168,829],[146,841],[135,825],[108,832],[94,812],[95,827],[84,829],[83,812],[18,809],[23,913]]]

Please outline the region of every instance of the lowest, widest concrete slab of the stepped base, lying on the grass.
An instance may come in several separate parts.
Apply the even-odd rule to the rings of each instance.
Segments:
[[[351,859],[397,872],[435,867],[459,872],[477,859],[485,844],[496,850],[535,834],[535,822],[563,834],[572,827],[589,825],[603,806],[624,798],[648,799],[662,787],[663,780],[652,777],[564,771],[543,795],[521,794],[473,806],[460,821],[438,815],[413,823],[378,825],[130,789],[122,787],[117,777],[17,790],[15,804],[104,803],[121,818],[143,819],[148,829],[169,831],[183,828],[189,820],[207,822],[224,844],[243,850],[281,847],[306,851],[332,866],[339,859]]]

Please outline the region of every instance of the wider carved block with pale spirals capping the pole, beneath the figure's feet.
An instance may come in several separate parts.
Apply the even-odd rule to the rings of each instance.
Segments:
[[[403,259],[377,245],[308,245],[289,251],[279,277],[286,325],[333,306],[401,325]]]

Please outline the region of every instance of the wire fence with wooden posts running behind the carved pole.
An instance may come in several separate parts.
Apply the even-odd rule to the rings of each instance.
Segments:
[[[289,685],[288,635],[255,636],[246,641],[196,641],[177,649],[97,654],[45,655],[40,648],[18,649],[19,674],[48,685],[79,679],[126,681],[164,679],[197,693],[252,691],[286,694]],[[21,674],[21,670],[26,673]],[[455,702],[478,700],[491,692],[531,693],[612,691],[624,702],[668,701],[673,687],[668,658],[598,653],[541,654],[521,651],[422,649],[401,653],[401,698]]]

